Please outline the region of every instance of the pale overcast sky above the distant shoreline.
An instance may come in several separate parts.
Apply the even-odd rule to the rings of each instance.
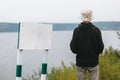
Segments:
[[[80,22],[84,9],[93,21],[120,21],[120,0],[0,0],[0,22]]]

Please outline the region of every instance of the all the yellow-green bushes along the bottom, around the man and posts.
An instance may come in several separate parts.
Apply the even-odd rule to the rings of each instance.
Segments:
[[[47,80],[77,80],[76,66],[71,63],[71,66],[66,66],[61,61],[62,67],[52,68],[47,74]],[[99,60],[100,74],[99,80],[120,80],[120,51],[114,50],[112,47],[106,49],[100,56]],[[89,75],[87,74],[87,80]],[[34,71],[32,76],[23,80],[38,80],[40,78],[40,70]]]

